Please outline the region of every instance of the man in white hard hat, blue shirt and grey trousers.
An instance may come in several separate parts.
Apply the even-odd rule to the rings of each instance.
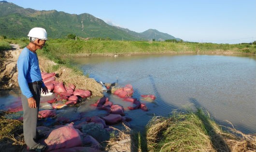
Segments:
[[[38,143],[39,134],[36,130],[37,117],[42,93],[48,93],[43,83],[39,69],[36,50],[42,49],[47,40],[47,33],[43,28],[32,28],[29,33],[29,44],[19,55],[17,61],[18,83],[21,89],[23,107],[23,133],[29,150],[43,152],[46,146]]]

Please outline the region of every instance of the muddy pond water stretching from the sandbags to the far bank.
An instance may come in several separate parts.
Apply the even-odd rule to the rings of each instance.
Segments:
[[[132,84],[135,98],[156,96],[154,103],[142,101],[149,111],[126,112],[135,129],[143,128],[152,115],[199,107],[219,124],[231,122],[244,133],[256,133],[256,56],[138,55],[76,58],[74,63],[97,81]]]

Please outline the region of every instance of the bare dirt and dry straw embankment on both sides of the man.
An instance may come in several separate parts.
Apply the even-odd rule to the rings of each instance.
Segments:
[[[2,52],[2,59],[0,60],[0,90],[19,88],[17,82],[17,60],[22,49],[19,48],[18,44],[11,44],[11,46],[13,47],[12,50]],[[52,71],[49,67],[57,65],[56,63],[43,56],[38,56],[38,59],[41,71],[55,72],[57,81],[72,83],[76,88],[90,90],[93,96],[103,95],[102,86],[94,79],[76,74],[72,69],[61,66],[57,71]]]

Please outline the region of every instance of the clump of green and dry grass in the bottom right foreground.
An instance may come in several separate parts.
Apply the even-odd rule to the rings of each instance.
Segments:
[[[223,131],[202,110],[154,117],[147,128],[150,152],[255,152],[256,137]]]

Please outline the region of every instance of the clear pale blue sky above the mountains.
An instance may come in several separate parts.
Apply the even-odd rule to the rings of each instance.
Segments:
[[[106,23],[149,28],[184,41],[256,41],[256,0],[7,0],[35,10],[88,13]]]

